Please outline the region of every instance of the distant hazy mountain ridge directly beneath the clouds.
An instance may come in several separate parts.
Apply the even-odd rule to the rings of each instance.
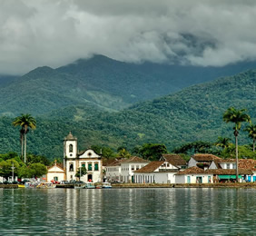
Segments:
[[[224,67],[170,64],[129,64],[103,55],[80,59],[57,69],[48,66],[9,80],[0,79],[0,114],[39,115],[74,105],[120,111],[192,84],[211,81],[248,68],[255,62]]]

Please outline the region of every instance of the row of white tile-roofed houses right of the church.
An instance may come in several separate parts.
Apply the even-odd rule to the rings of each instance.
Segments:
[[[138,167],[141,166],[142,168]],[[240,182],[256,181],[256,161],[239,160]],[[139,157],[115,160],[105,167],[110,182],[137,183],[212,183],[233,182],[236,160],[222,159],[212,154],[195,154],[189,162],[180,155],[163,154],[160,161],[147,162]]]

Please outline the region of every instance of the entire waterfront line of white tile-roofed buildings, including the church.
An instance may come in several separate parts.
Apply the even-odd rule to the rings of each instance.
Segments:
[[[72,133],[64,137],[64,166],[55,163],[48,169],[45,181],[77,180],[82,167],[87,170],[81,177],[84,182],[212,183],[236,179],[235,159],[222,159],[212,154],[195,154],[189,162],[178,154],[162,154],[156,162],[137,156],[103,162],[101,154],[92,149],[78,152],[77,146],[77,138]],[[255,167],[254,160],[239,160],[240,182],[255,182]]]

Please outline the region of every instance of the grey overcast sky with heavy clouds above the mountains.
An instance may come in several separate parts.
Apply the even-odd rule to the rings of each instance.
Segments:
[[[223,66],[256,59],[254,0],[0,0],[0,74],[103,54]]]

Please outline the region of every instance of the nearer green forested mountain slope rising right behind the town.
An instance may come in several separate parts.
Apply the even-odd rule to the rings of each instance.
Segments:
[[[78,137],[80,150],[95,144],[131,149],[143,143],[164,143],[171,151],[182,143],[215,142],[218,136],[233,140],[232,124],[223,123],[222,114],[230,106],[247,108],[255,123],[255,84],[256,71],[250,70],[192,85],[118,113],[99,111],[93,105],[65,107],[36,117],[37,129],[28,134],[28,152],[62,156],[63,138],[69,131]],[[0,152],[18,152],[19,133],[11,119],[2,117],[0,128]],[[239,143],[251,143],[242,130]]]

